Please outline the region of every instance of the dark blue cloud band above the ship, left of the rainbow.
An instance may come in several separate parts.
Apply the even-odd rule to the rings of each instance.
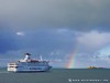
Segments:
[[[74,43],[76,42],[74,33],[74,38],[72,38],[69,32],[50,29],[26,30],[24,33],[22,32],[23,35],[18,34],[18,32],[12,31],[10,28],[2,28],[0,32],[0,46],[2,46],[0,53],[23,49],[36,49],[38,53],[48,53],[54,50],[69,51],[74,49]]]

